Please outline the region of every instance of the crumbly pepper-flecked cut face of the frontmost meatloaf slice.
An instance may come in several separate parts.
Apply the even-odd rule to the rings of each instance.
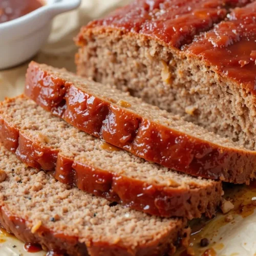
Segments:
[[[127,248],[167,241],[183,221],[158,218],[112,204],[50,175],[27,167],[0,145],[0,169],[7,174],[0,183],[0,205],[25,219],[29,228],[41,223],[53,233],[78,237],[81,243],[102,242]],[[56,221],[51,221],[55,218]]]

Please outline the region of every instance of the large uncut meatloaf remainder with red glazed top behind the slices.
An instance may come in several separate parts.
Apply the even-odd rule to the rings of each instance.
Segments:
[[[77,72],[256,150],[256,3],[228,9],[248,2],[135,1],[81,29]]]

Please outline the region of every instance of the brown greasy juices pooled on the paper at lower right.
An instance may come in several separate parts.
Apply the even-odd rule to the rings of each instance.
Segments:
[[[222,238],[218,237],[220,228],[227,224],[233,225],[236,223],[236,217],[246,218],[253,214],[256,208],[256,182],[251,182],[249,186],[226,184],[224,188],[225,198],[231,200],[234,204],[234,209],[223,215],[217,212],[214,219],[196,219],[190,222],[191,238],[190,245],[187,249],[181,249],[175,255],[191,256],[191,255],[218,255],[225,245],[222,243]],[[234,219],[227,221],[226,217],[232,216]],[[207,247],[201,247],[200,241],[207,238],[210,243]],[[238,255],[238,254],[234,254]]]

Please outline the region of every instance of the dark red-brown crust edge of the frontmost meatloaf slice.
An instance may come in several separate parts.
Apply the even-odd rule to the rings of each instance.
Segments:
[[[184,228],[186,221],[177,222],[176,229],[166,234],[165,237],[146,244],[135,250],[122,248],[121,246],[110,245],[101,242],[79,242],[78,237],[70,237],[62,233],[56,233],[53,230],[41,225],[34,233],[31,232],[31,222],[25,217],[20,218],[11,214],[8,207],[2,204],[0,206],[0,224],[15,237],[25,243],[37,243],[43,248],[57,250],[62,253],[68,253],[74,256],[154,256],[172,254],[182,238],[189,238],[189,228]]]

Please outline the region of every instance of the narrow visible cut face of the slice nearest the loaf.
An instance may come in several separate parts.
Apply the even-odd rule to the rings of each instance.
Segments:
[[[161,110],[152,104],[145,103],[142,99],[133,97],[129,93],[122,92],[110,84],[95,83],[89,79],[81,78],[73,73],[65,70],[61,71],[47,65],[40,65],[40,68],[49,72],[53,77],[69,81],[78,89],[83,90],[89,95],[101,98],[103,101],[109,101],[111,104],[116,104],[119,108],[126,108],[127,111],[134,112],[144,119],[165,125],[169,129],[186,133],[187,135],[207,141],[208,143],[220,144],[224,147],[233,147],[240,150],[245,149],[242,145],[233,142],[231,139],[209,132],[201,126],[185,121],[178,115]],[[125,106],[123,102],[127,103],[127,106]]]

